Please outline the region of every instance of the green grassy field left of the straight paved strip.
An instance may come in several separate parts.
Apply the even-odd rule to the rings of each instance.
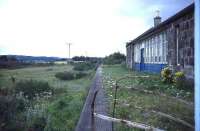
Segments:
[[[52,96],[31,101],[31,106],[18,114],[16,121],[24,121],[24,130],[33,126],[43,126],[46,131],[71,131],[75,129],[94,70],[87,71],[87,76],[76,80],[59,80],[55,77],[57,72],[72,70],[72,65],[0,70],[1,89],[12,90],[15,83],[19,81],[37,80],[48,82],[54,90]],[[11,77],[15,78],[15,83],[12,82]],[[44,118],[45,122],[38,118]],[[42,122],[44,125],[41,125]]]

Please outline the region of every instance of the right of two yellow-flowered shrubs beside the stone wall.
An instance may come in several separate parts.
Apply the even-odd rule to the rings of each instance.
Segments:
[[[177,88],[184,88],[186,84],[185,79],[185,74],[179,71],[175,73],[173,81]]]

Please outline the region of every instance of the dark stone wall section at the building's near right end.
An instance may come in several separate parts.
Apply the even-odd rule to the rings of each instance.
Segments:
[[[178,30],[178,35],[177,35]],[[177,61],[178,39],[178,61]],[[176,71],[184,71],[194,78],[194,13],[174,21],[167,29],[168,64]],[[177,63],[178,62],[178,63]]]

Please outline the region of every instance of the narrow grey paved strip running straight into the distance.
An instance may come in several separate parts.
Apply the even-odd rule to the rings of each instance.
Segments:
[[[91,104],[94,97],[95,91],[98,91],[95,101],[95,112],[103,115],[107,115],[108,112],[108,102],[105,97],[104,90],[102,88],[102,68],[99,67],[95,74],[94,80],[90,87],[88,96],[85,101],[85,105],[81,112],[80,119],[76,126],[76,131],[111,131],[112,123],[99,119],[92,118]]]

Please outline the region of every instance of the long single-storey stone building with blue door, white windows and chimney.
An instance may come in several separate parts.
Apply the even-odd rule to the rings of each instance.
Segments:
[[[128,68],[159,73],[169,66],[194,78],[194,3],[126,44]]]

